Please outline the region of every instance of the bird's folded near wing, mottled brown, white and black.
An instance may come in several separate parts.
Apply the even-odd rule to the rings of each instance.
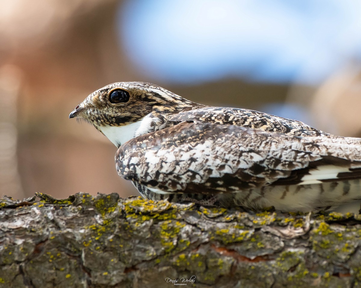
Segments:
[[[234,192],[361,176],[361,139],[183,121],[127,141],[118,174],[165,192]]]

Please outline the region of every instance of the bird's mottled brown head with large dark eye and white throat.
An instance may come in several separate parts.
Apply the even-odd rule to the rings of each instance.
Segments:
[[[149,118],[146,123],[149,126],[150,121],[159,120],[160,116],[164,117],[184,108],[189,109],[194,104],[157,85],[117,82],[90,94],[75,107],[69,118],[77,117],[91,123],[119,147],[125,140],[134,137],[131,134],[138,131],[144,118]],[[113,128],[126,126],[126,129],[121,130]],[[149,132],[145,128],[138,131],[138,134]]]

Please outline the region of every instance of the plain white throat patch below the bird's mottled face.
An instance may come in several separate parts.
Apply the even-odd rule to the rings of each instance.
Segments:
[[[101,126],[99,130],[117,147],[126,141],[140,135],[151,132],[151,125],[158,121],[158,118],[152,118],[149,113],[142,120],[123,126]]]

